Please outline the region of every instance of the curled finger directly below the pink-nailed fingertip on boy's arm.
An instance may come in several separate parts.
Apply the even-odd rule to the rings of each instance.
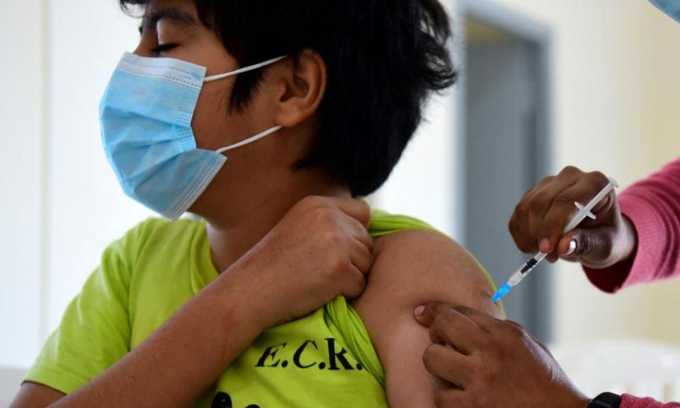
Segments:
[[[441,310],[430,326],[434,344],[448,344],[468,356],[485,342],[486,335],[482,327],[454,308]]]

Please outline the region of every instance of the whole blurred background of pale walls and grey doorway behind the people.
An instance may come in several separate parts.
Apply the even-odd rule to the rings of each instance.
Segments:
[[[0,13],[0,366],[28,367],[103,249],[152,216],[101,148],[98,103],[138,22],[114,0],[4,0]],[[565,165],[623,187],[680,156],[680,24],[645,0],[449,0],[462,74],[374,204],[429,221],[501,284],[506,224]],[[680,346],[680,281],[608,296],[540,267],[509,317],[551,344]]]

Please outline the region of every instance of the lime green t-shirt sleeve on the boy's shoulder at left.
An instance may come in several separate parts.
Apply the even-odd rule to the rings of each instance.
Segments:
[[[104,251],[100,266],[68,305],[24,381],[70,394],[128,354],[128,239]]]

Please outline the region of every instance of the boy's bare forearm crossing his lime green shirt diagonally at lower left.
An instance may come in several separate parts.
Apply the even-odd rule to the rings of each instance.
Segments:
[[[246,315],[254,299],[234,286],[220,276],[128,356],[51,407],[192,406],[259,335]]]

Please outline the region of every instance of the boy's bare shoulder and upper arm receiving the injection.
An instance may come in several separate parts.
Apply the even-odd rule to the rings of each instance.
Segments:
[[[385,368],[390,407],[435,407],[433,391],[443,386],[423,364],[431,342],[414,309],[439,301],[501,317],[492,295],[480,264],[446,236],[406,231],[376,242],[368,286],[354,306]]]

